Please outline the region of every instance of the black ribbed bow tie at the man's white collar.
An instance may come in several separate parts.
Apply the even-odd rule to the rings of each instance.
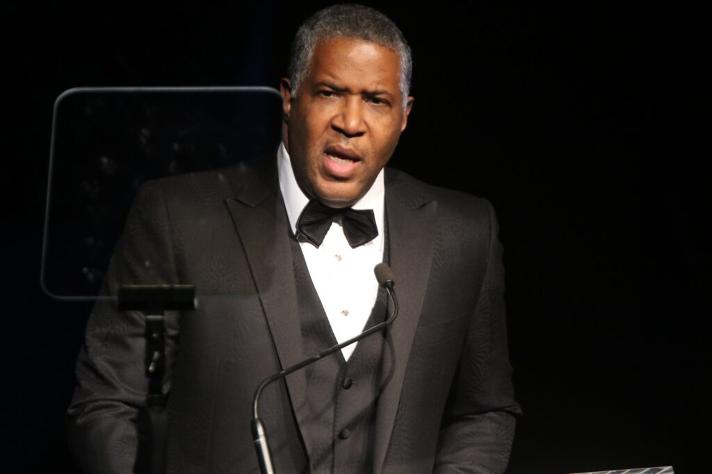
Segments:
[[[301,235],[307,242],[318,248],[321,242],[324,242],[331,222],[335,220],[341,220],[344,235],[352,249],[371,242],[378,235],[372,209],[334,209],[318,201],[309,201],[302,211],[297,222],[297,235]]]

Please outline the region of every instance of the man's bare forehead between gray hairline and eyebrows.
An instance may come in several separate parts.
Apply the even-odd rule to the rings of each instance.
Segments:
[[[309,68],[313,81],[362,82],[398,88],[400,60],[384,45],[337,36],[319,40]]]

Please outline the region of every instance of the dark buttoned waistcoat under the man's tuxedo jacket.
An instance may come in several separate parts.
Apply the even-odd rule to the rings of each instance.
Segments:
[[[388,262],[387,235],[384,249],[384,261]],[[303,354],[309,356],[337,341],[295,239],[292,255],[302,349]],[[379,289],[364,329],[386,317],[387,295]],[[337,351],[305,367],[309,416],[308,426],[303,426],[301,431],[308,446],[313,473],[366,473],[372,470],[384,339],[385,333],[380,331],[360,340],[348,362],[341,351]]]

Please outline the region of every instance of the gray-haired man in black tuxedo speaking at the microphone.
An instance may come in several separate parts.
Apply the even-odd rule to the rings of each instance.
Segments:
[[[169,472],[255,472],[257,385],[383,321],[372,276],[382,261],[401,306],[392,327],[263,392],[276,471],[506,467],[519,408],[493,210],[384,171],[412,109],[410,71],[407,43],[382,14],[320,11],[298,31],[281,83],[276,160],[142,188],[105,291],[184,283],[236,295],[168,315]],[[69,410],[87,470],[134,466],[143,319],[99,303],[88,323]]]

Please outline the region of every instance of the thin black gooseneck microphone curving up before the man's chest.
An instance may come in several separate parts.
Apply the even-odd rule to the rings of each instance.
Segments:
[[[317,355],[313,355],[308,359],[298,362],[297,364],[291,367],[287,367],[286,369],[282,370],[281,372],[278,372],[277,374],[270,375],[262,381],[259,387],[257,387],[257,390],[255,391],[255,397],[252,401],[252,438],[255,442],[255,451],[257,453],[257,459],[260,464],[260,471],[262,474],[274,474],[274,465],[272,464],[272,455],[269,451],[267,433],[258,414],[258,403],[262,390],[272,382],[276,382],[277,380],[286,377],[287,375],[290,375],[292,372],[300,370],[302,367],[306,367],[307,365],[316,362],[322,357],[326,357],[327,355],[333,354],[333,352],[341,350],[347,345],[362,340],[363,338],[366,338],[367,336],[370,336],[373,333],[377,333],[379,330],[382,330],[387,325],[393,323],[393,321],[395,321],[396,316],[398,316],[398,300],[396,299],[396,295],[393,291],[393,286],[395,284],[393,272],[391,271],[389,266],[384,263],[377,264],[373,271],[376,274],[376,279],[378,281],[379,286],[382,286],[387,291],[388,296],[391,300],[393,306],[391,316],[389,316],[386,321],[378,323],[372,328],[365,330],[364,332],[360,333],[359,335],[356,335],[355,337],[349,340],[345,340],[340,344],[333,345],[327,350],[323,350]]]

